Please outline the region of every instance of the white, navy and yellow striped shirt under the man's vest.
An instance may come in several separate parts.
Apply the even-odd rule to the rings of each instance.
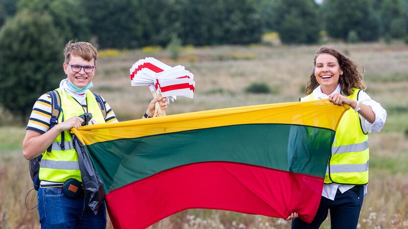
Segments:
[[[105,122],[118,122],[115,113],[113,113],[112,108],[110,108],[105,99],[102,98],[102,102],[106,108]],[[86,99],[84,99],[81,105],[86,112]],[[51,96],[49,94],[41,95],[34,104],[26,130],[33,130],[42,134],[47,132],[50,129],[51,110]]]

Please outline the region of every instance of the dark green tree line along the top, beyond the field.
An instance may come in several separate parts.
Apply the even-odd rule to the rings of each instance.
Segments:
[[[284,44],[408,36],[406,0],[0,0],[0,25],[21,12],[47,14],[64,42],[102,48],[258,43],[276,31]],[[20,16],[19,16],[20,15]]]

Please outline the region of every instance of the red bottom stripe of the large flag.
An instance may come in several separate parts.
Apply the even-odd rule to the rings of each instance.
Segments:
[[[319,206],[323,179],[249,164],[184,165],[129,183],[106,194],[115,229],[147,228],[189,208],[232,210],[307,223]],[[316,194],[317,193],[317,194]],[[305,201],[302,196],[311,197]]]

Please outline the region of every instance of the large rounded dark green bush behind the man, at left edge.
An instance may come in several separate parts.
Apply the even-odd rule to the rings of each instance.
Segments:
[[[47,13],[23,10],[0,30],[0,104],[26,120],[35,100],[63,76],[63,42]]]

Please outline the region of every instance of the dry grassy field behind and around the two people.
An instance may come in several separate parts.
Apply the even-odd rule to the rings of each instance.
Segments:
[[[140,118],[152,96],[147,87],[130,86],[128,71],[138,59],[153,56],[172,66],[184,65],[195,75],[194,99],[178,98],[170,104],[169,115],[298,101],[304,95],[318,47],[189,46],[182,50],[178,61],[171,60],[165,50],[128,50],[98,60],[93,91],[108,101],[119,120]],[[388,113],[383,131],[370,134],[370,183],[359,227],[408,228],[408,46],[372,43],[340,44],[337,48],[364,66],[366,92]],[[267,85],[271,92],[245,92],[254,82]],[[21,152],[24,124],[11,124],[13,120],[5,112],[0,117],[0,228],[39,228],[36,209],[27,210],[25,206],[26,193],[32,184],[28,162]],[[35,206],[36,192],[29,193],[26,202],[29,207]],[[290,222],[229,211],[191,209],[152,228],[285,229],[290,228]],[[330,221],[322,228],[330,228]]]

